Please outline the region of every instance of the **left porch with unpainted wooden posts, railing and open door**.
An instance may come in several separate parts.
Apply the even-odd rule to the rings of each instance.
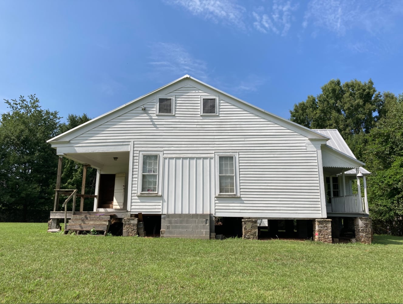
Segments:
[[[82,164],[81,193],[76,189],[60,189],[63,159],[69,158]],[[78,165],[76,165],[76,169]],[[95,193],[85,193],[87,168],[97,169]],[[69,172],[69,171],[68,171]],[[60,219],[66,225],[77,217],[110,216],[115,219],[130,217],[128,211],[130,192],[129,151],[89,152],[59,155],[54,208],[50,212],[49,229],[60,229]],[[63,197],[64,196],[64,197]],[[62,198],[62,200],[60,200]],[[84,204],[84,200],[89,199]],[[93,200],[93,203],[91,202]],[[61,208],[60,208],[61,205]],[[73,222],[72,222],[73,223]]]

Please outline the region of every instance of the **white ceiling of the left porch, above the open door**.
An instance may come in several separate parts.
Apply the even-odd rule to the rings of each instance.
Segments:
[[[121,167],[129,164],[129,151],[119,152],[89,152],[89,153],[68,153],[64,154],[66,158],[70,158],[81,164],[89,164],[96,169],[104,169],[105,167]],[[117,160],[114,160],[117,157]]]

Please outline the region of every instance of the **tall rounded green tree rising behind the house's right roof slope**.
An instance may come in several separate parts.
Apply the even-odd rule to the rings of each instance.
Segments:
[[[290,110],[291,121],[311,129],[338,129],[343,138],[359,133],[369,133],[374,127],[379,108],[388,102],[376,92],[371,79],[357,79],[341,83],[332,79],[322,86],[322,93],[294,105]],[[390,92],[385,96],[392,98]],[[383,114],[383,112],[382,112]]]

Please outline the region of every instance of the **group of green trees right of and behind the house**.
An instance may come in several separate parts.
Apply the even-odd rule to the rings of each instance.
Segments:
[[[367,191],[375,233],[403,233],[403,94],[377,92],[371,79],[332,79],[294,105],[291,121],[338,129],[372,174]]]

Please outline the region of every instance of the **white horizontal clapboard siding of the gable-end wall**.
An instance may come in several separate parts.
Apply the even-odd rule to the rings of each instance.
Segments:
[[[164,162],[175,158],[211,159],[214,152],[238,153],[240,197],[214,196],[214,210],[208,212],[216,216],[321,217],[316,150],[307,150],[307,137],[222,96],[219,115],[201,116],[200,96],[214,92],[191,85],[162,94],[175,95],[174,116],[156,115],[156,96],[148,96],[136,104],[137,108],[71,140],[89,146],[133,141],[132,213],[163,212],[162,196],[137,195],[138,170],[142,166],[139,152],[152,150],[162,151],[160,161]],[[141,110],[143,106],[145,110]],[[210,172],[212,182],[214,170]],[[163,174],[166,178],[166,172]]]

